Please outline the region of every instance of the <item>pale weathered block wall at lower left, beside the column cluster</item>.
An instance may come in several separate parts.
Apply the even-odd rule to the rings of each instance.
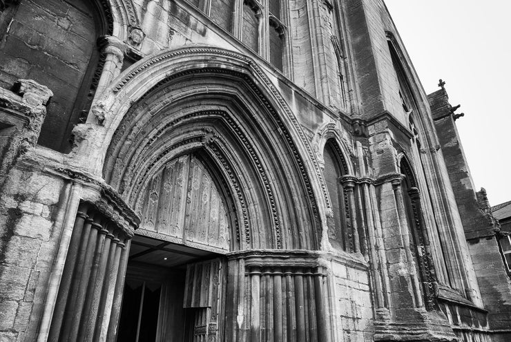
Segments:
[[[30,169],[35,165],[26,165]],[[39,166],[40,167],[40,166]],[[61,234],[69,189],[40,171],[14,169],[1,192],[0,335],[35,337]],[[30,337],[31,336],[31,337]]]

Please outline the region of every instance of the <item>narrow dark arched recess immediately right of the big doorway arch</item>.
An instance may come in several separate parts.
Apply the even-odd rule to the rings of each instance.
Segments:
[[[338,151],[335,142],[328,140],[323,150],[323,159],[325,160],[325,182],[330,196],[333,218],[329,219],[329,240],[333,247],[342,250],[349,250],[348,231],[346,227],[346,209],[345,194],[343,186],[339,182],[340,176],[346,173],[343,166],[343,160]]]

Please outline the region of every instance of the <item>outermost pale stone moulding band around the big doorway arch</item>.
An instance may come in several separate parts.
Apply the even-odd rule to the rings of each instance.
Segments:
[[[233,51],[208,46],[163,50],[126,69],[97,99],[91,108],[92,115],[89,115],[88,122],[75,127],[73,133],[77,137],[77,145],[72,152],[73,160],[81,169],[100,176],[113,134],[133,104],[176,75],[211,73],[212,70],[222,77],[229,77],[230,74],[242,77],[273,115],[273,120],[279,123],[279,133],[293,146],[293,158],[302,173],[309,196],[315,198],[317,220],[326,227],[326,208],[318,205],[318,199],[327,200],[328,194],[316,152],[296,115],[269,78],[255,61]]]

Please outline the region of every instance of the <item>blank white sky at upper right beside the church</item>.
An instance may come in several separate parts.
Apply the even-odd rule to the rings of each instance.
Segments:
[[[511,1],[385,0],[426,93],[443,79],[479,191],[511,201]]]

